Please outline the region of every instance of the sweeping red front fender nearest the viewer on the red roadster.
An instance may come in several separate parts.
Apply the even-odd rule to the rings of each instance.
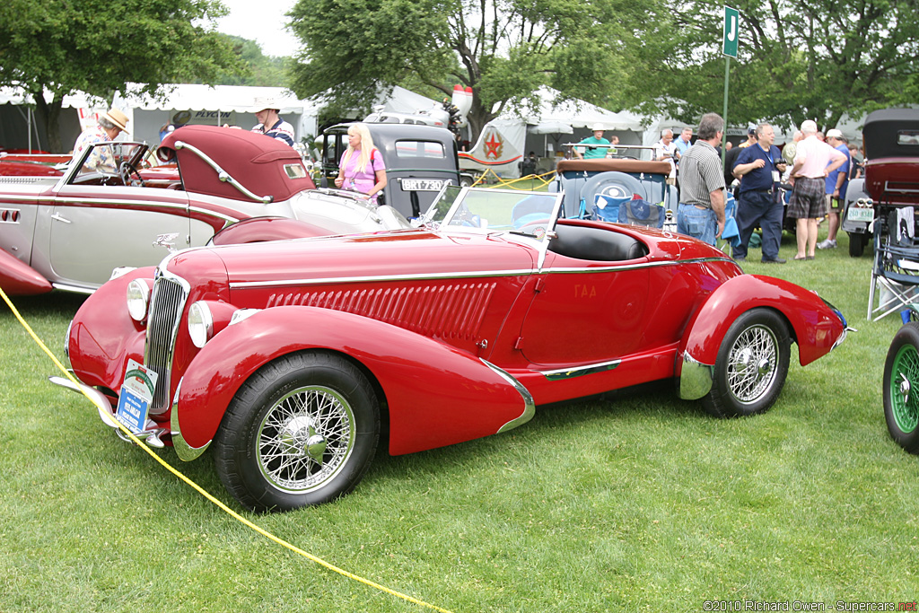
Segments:
[[[191,448],[208,445],[255,370],[311,349],[345,354],[380,383],[393,455],[493,435],[533,414],[528,392],[509,375],[453,346],[353,313],[289,306],[228,326],[201,349],[174,407],[181,438]]]

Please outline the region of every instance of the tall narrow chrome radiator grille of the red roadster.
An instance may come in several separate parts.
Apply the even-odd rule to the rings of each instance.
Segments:
[[[159,273],[153,282],[150,312],[147,315],[147,340],[143,362],[158,375],[150,413],[161,414],[169,408],[170,374],[176,354],[176,335],[188,298],[185,279]]]

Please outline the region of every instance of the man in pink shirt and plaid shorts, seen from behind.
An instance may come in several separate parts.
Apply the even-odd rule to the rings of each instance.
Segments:
[[[812,260],[817,249],[817,220],[826,215],[826,176],[845,163],[845,155],[817,138],[817,123],[801,124],[804,139],[798,143],[795,164],[791,167],[788,216],[796,219],[798,255],[796,260]]]

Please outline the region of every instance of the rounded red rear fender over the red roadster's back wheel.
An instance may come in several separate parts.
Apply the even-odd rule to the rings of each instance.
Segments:
[[[801,366],[829,353],[845,332],[836,313],[812,291],[780,278],[741,275],[715,289],[686,326],[677,373],[686,354],[700,364],[714,365],[721,340],[734,320],[758,307],[773,309],[788,320]]]

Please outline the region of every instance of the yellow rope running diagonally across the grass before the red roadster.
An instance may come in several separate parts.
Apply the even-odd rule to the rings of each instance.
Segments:
[[[16,318],[17,318],[19,324],[22,324],[22,327],[25,328],[25,330],[26,330],[26,332],[28,333],[28,335],[31,336],[32,340],[35,341],[35,343],[40,347],[40,349],[41,349],[42,351],[44,351],[44,352],[48,355],[49,358],[51,358],[51,361],[54,362],[54,365],[55,365],[58,369],[60,369],[61,372],[64,374],[64,376],[67,377],[67,379],[71,380],[71,381],[74,383],[74,385],[79,386],[79,385],[80,385],[79,381],[77,381],[77,380],[74,378],[74,375],[72,375],[72,374],[70,373],[69,370],[67,370],[66,368],[64,368],[64,366],[63,366],[63,364],[61,363],[61,361],[58,360],[58,358],[55,357],[53,353],[51,353],[51,350],[48,348],[48,346],[46,346],[46,345],[41,341],[41,339],[39,338],[39,336],[36,335],[35,332],[32,330],[31,326],[29,326],[28,323],[26,322],[26,320],[23,319],[22,315],[19,314],[19,312],[17,311],[17,308],[13,305],[13,302],[9,300],[9,297],[8,297],[8,296],[6,296],[6,292],[3,290],[3,288],[0,288],[0,298],[3,298],[3,300],[6,302],[6,305],[10,308],[10,311],[12,311],[13,314],[16,316]],[[90,397],[89,394],[87,394],[86,392],[83,392],[83,395],[86,397],[87,400],[89,400],[90,403],[93,403],[93,406],[97,406],[97,405],[96,405],[96,402],[92,399],[92,397]],[[101,407],[101,408],[103,408],[103,409],[105,409],[105,410],[108,410],[108,407]],[[345,576],[345,577],[347,577],[348,579],[353,579],[354,581],[357,581],[358,583],[361,583],[361,584],[364,584],[364,585],[369,585],[370,587],[373,587],[373,588],[375,588],[375,589],[380,590],[380,592],[385,592],[386,594],[389,594],[389,595],[391,595],[391,596],[396,596],[397,598],[402,598],[403,600],[406,600],[406,601],[411,602],[411,603],[413,603],[413,604],[415,604],[415,605],[418,605],[419,607],[430,608],[430,609],[433,609],[433,610],[435,610],[435,611],[439,611],[440,613],[450,613],[450,611],[448,611],[448,609],[436,607],[436,606],[431,605],[431,604],[428,604],[428,603],[426,603],[426,602],[424,602],[424,601],[422,601],[422,600],[418,600],[417,598],[413,598],[412,596],[407,596],[407,595],[405,595],[405,594],[403,594],[403,593],[401,593],[401,592],[397,592],[397,591],[395,591],[395,590],[393,590],[393,589],[391,589],[391,588],[389,588],[389,587],[386,587],[385,585],[380,585],[380,584],[374,583],[374,582],[370,581],[369,579],[365,579],[365,578],[363,578],[363,577],[358,576],[357,574],[348,573],[346,570],[341,569],[341,568],[338,568],[337,566],[335,566],[335,564],[331,564],[331,563],[329,563],[329,562],[325,562],[322,558],[318,558],[318,557],[312,555],[312,553],[308,553],[307,551],[303,551],[303,550],[301,550],[299,547],[297,547],[297,546],[295,546],[295,545],[292,545],[292,544],[289,543],[288,541],[286,541],[286,540],[284,540],[284,539],[279,539],[279,538],[276,537],[275,535],[273,535],[273,534],[271,534],[270,532],[268,532],[266,529],[260,528],[260,527],[256,526],[254,523],[252,523],[251,521],[249,521],[249,520],[246,519],[245,517],[242,517],[241,515],[239,515],[239,514],[236,513],[235,511],[233,511],[233,509],[231,509],[229,506],[224,505],[223,503],[221,503],[220,500],[218,500],[218,499],[215,498],[213,495],[211,495],[209,492],[207,492],[207,491],[206,491],[204,488],[202,488],[198,483],[193,482],[193,481],[192,481],[191,479],[189,479],[187,476],[185,476],[184,474],[182,474],[181,472],[177,471],[175,468],[173,468],[172,466],[170,466],[169,464],[167,464],[167,463],[165,462],[165,460],[163,460],[163,459],[160,458],[158,455],[156,455],[155,453],[153,453],[153,449],[151,449],[151,448],[147,447],[146,445],[144,445],[144,444],[142,443],[141,439],[139,439],[138,437],[135,437],[135,436],[133,435],[133,433],[131,433],[131,431],[130,431],[127,427],[125,427],[123,424],[121,424],[118,420],[113,420],[113,421],[115,421],[115,423],[119,426],[119,429],[120,429],[122,432],[124,432],[126,435],[128,435],[128,437],[130,437],[130,439],[131,439],[134,443],[136,443],[138,447],[142,448],[144,451],[146,451],[148,454],[150,454],[150,456],[153,458],[153,460],[156,460],[157,462],[159,462],[167,471],[172,472],[172,473],[173,473],[174,475],[176,475],[176,477],[178,477],[180,480],[186,482],[187,485],[189,485],[191,488],[193,488],[194,490],[196,490],[199,494],[201,494],[202,496],[204,496],[205,498],[207,498],[208,500],[210,500],[211,503],[213,503],[214,505],[217,505],[218,507],[220,507],[220,509],[221,509],[224,513],[226,513],[226,514],[229,515],[230,517],[233,517],[233,519],[235,519],[236,521],[238,521],[238,522],[244,524],[246,527],[255,530],[255,532],[257,532],[258,534],[262,535],[262,536],[265,537],[266,539],[273,540],[273,541],[275,541],[276,543],[278,543],[278,545],[281,545],[282,547],[285,547],[285,548],[287,548],[287,549],[289,549],[290,551],[293,551],[293,552],[295,552],[295,553],[299,553],[301,556],[303,556],[304,558],[310,560],[311,562],[315,562],[315,563],[319,564],[320,566],[324,566],[324,567],[327,568],[328,570],[333,571],[333,572],[338,573],[338,574],[341,574],[342,576]]]

